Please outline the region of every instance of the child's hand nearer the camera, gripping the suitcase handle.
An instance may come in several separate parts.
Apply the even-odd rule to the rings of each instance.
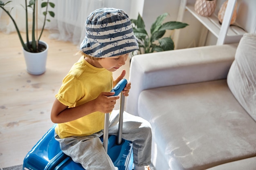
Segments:
[[[96,99],[94,99],[96,110],[103,113],[112,112],[116,100],[119,99],[119,96],[112,96],[114,94],[115,92],[102,92]]]

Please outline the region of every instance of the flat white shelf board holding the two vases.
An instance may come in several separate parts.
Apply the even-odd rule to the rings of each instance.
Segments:
[[[210,17],[203,17],[199,15],[193,5],[187,5],[186,9],[198,20],[200,21],[213,35],[219,38],[221,25],[219,23],[216,14],[212,14]],[[237,25],[237,24],[235,24]],[[227,31],[226,42],[239,42],[245,31],[237,26],[229,26]]]

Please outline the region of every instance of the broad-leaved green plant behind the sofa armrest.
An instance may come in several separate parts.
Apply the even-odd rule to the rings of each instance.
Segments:
[[[162,37],[166,33],[166,30],[181,29],[188,26],[188,24],[176,21],[162,23],[167,15],[168,13],[163,13],[157,17],[150,28],[150,34],[145,30],[145,23],[141,15],[138,15],[137,20],[131,19],[134,34],[138,38],[138,54],[174,49],[174,42],[171,36]]]

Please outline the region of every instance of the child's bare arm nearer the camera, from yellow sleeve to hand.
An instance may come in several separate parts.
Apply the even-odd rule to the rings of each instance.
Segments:
[[[102,92],[96,99],[74,108],[68,108],[55,99],[51,111],[51,120],[53,123],[65,123],[96,111],[110,113],[116,100],[119,99],[119,96],[112,96],[114,94],[115,92]]]

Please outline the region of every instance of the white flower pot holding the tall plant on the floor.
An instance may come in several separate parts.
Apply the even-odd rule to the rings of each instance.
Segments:
[[[46,59],[49,46],[42,40],[39,41],[39,44],[44,44],[46,46],[45,51],[40,53],[30,53],[22,48],[27,65],[27,72],[33,75],[43,74],[46,70]]]

